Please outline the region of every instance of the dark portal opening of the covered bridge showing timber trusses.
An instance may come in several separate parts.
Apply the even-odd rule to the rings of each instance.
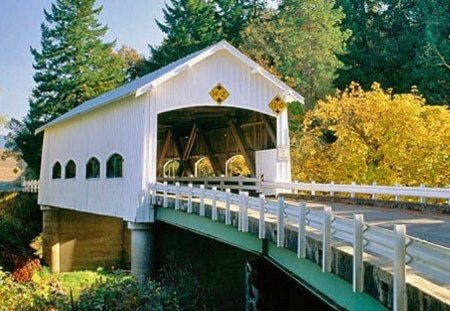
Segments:
[[[256,153],[277,145],[276,118],[201,106],[158,115],[157,177],[260,177]]]

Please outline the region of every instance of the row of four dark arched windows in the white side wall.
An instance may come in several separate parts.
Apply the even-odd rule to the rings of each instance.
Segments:
[[[123,157],[114,153],[106,161],[106,178],[123,177]],[[77,177],[77,165],[74,160],[69,160],[64,167],[64,178],[73,179]],[[52,178],[62,178],[62,166],[58,161],[53,164]],[[96,157],[92,157],[86,163],[86,179],[100,178],[100,161]]]

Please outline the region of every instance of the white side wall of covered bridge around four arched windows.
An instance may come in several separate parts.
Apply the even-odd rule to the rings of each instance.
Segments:
[[[129,97],[46,129],[39,204],[133,220],[143,195],[145,98]],[[106,179],[106,161],[116,152],[124,157],[124,176]],[[99,179],[86,179],[92,156],[100,161]],[[77,164],[77,176],[64,179],[70,159]],[[51,178],[56,161],[62,165],[62,179]]]

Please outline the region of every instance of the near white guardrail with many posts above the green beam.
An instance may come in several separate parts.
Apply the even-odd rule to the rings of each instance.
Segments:
[[[278,184],[277,184],[278,186]],[[323,211],[310,210],[305,202],[299,205],[286,204],[283,197],[278,201],[266,200],[264,195],[250,197],[246,192],[239,194],[214,189],[182,186],[179,183],[150,184],[152,204],[156,204],[156,197],[163,197],[163,207],[168,207],[168,197],[175,196],[175,209],[185,209],[192,213],[193,200],[199,201],[199,215],[205,216],[205,200],[211,205],[211,218],[217,220],[218,202],[225,209],[225,224],[231,225],[231,210],[237,209],[237,227],[239,231],[249,231],[249,212],[257,215],[260,239],[266,237],[265,219],[270,216],[276,219],[277,246],[285,246],[284,230],[290,225],[298,230],[297,255],[306,257],[306,228],[316,230],[322,236],[322,270],[331,271],[331,246],[333,242],[340,241],[353,248],[353,290],[363,291],[364,262],[363,253],[391,260],[394,275],[394,310],[406,309],[406,265],[419,271],[430,281],[438,281],[450,286],[450,249],[422,241],[406,235],[404,225],[395,225],[394,231],[368,225],[364,222],[362,214],[355,214],[354,219],[348,219],[333,214],[331,207]],[[321,188],[321,191],[323,188]],[[328,189],[330,190],[330,189]],[[350,190],[353,190],[350,189]],[[186,205],[180,204],[187,201]],[[186,208],[184,206],[187,206]],[[223,207],[222,207],[223,206]]]

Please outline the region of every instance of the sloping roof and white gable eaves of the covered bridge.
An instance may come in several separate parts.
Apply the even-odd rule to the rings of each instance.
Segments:
[[[304,102],[303,96],[294,91],[292,88],[287,86],[284,82],[280,81],[276,77],[274,77],[271,73],[265,70],[263,67],[258,65],[256,62],[251,60],[249,57],[245,56],[241,51],[236,49],[234,46],[229,44],[226,41],[220,41],[216,44],[213,44],[203,50],[190,54],[186,57],[183,57],[171,64],[168,64],[165,67],[162,67],[154,72],[151,72],[139,79],[136,79],[130,83],[122,85],[118,88],[115,88],[109,92],[106,92],[96,98],[88,100],[82,105],[68,111],[62,116],[54,119],[53,121],[43,125],[42,127],[36,130],[36,134],[42,132],[46,128],[53,126],[55,124],[61,123],[63,121],[67,121],[81,114],[85,114],[89,111],[102,107],[104,105],[110,104],[112,102],[118,101],[119,99],[132,96],[139,97],[152,89],[158,87],[160,84],[166,82],[167,80],[175,77],[176,75],[182,73],[185,70],[188,70],[196,63],[201,62],[205,58],[215,54],[220,50],[227,50],[229,53],[233,54],[235,57],[246,63],[251,69],[252,73],[260,74],[271,83],[275,84],[278,88],[283,90],[283,96],[285,99],[290,101],[299,101],[301,103]]]

